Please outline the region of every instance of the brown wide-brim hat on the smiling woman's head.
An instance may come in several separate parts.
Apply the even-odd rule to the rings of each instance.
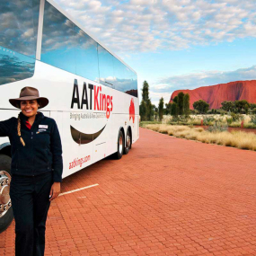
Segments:
[[[21,109],[21,102],[23,101],[31,101],[37,100],[40,104],[39,109],[44,108],[48,105],[49,100],[44,97],[40,97],[39,90],[33,87],[24,87],[20,93],[20,98],[10,99],[9,102],[13,105],[13,107],[17,109]]]

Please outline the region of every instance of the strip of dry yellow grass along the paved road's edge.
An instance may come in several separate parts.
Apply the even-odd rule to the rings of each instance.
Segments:
[[[256,135],[252,132],[209,132],[203,128],[190,128],[188,126],[171,126],[165,124],[152,124],[146,125],[145,127],[174,137],[182,137],[208,144],[233,146],[256,151]]]

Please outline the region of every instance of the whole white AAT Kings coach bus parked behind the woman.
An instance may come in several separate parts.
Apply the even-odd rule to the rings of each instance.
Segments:
[[[86,22],[85,22],[86,23]],[[25,86],[49,99],[63,145],[63,178],[137,141],[137,74],[51,0],[0,1],[0,120]],[[0,137],[0,232],[13,220],[11,146]]]

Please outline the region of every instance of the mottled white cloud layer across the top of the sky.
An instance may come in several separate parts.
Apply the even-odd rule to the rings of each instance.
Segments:
[[[187,49],[256,37],[256,4],[251,0],[57,2],[119,53]]]

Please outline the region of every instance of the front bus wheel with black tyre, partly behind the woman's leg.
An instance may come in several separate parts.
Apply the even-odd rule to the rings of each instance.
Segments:
[[[0,154],[0,233],[13,221],[13,207],[10,199],[11,157]]]

